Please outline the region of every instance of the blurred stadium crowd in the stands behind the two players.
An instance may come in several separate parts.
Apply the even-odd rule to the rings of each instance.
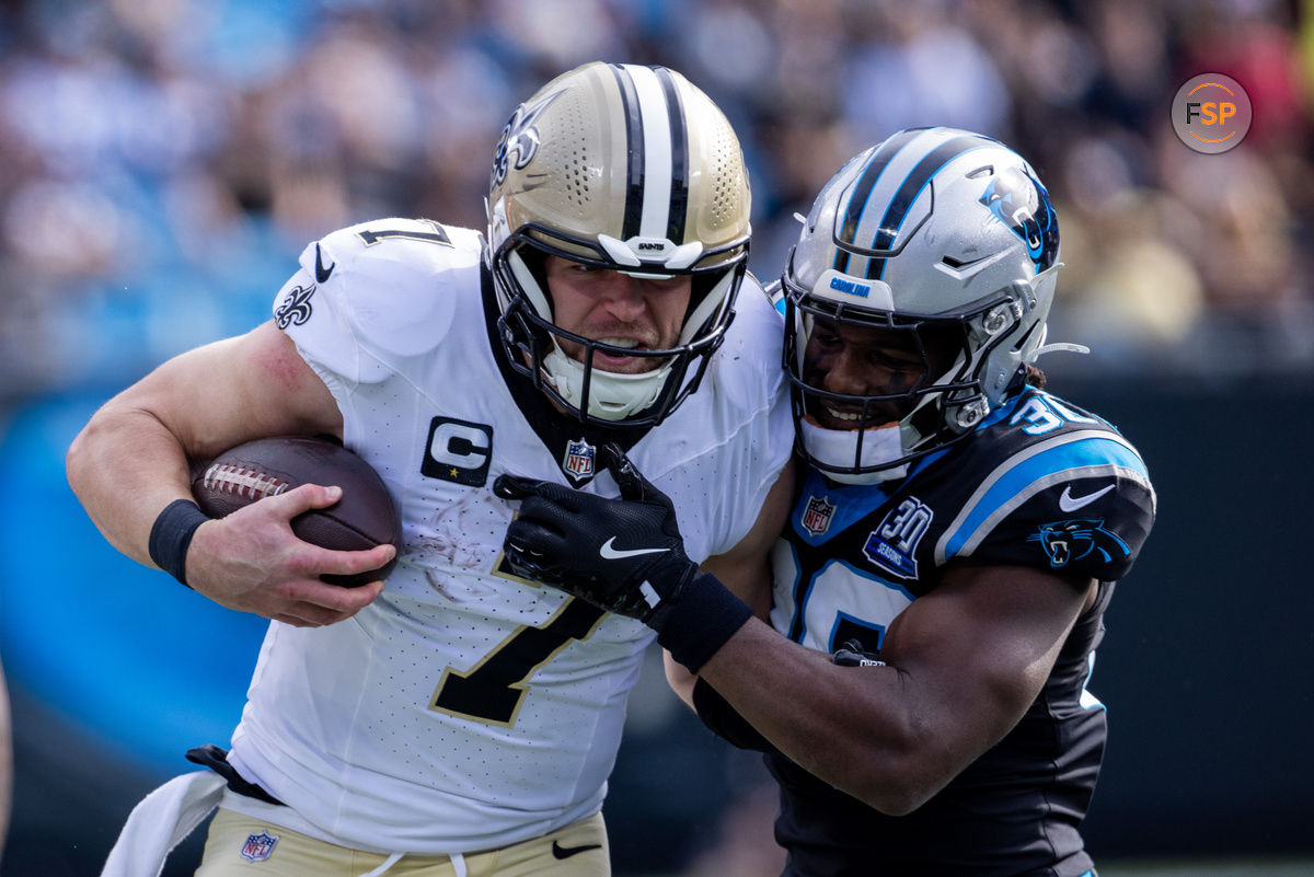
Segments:
[[[482,227],[510,110],[590,59],[673,66],[727,110],[763,278],[845,158],[954,125],[1055,197],[1051,337],[1095,349],[1071,368],[1309,372],[1311,20],[1310,0],[3,0],[0,399],[244,331],[335,227]],[[1198,72],[1255,106],[1223,155],[1169,126]]]

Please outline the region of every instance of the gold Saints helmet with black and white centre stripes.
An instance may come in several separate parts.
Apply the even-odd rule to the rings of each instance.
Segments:
[[[493,160],[490,260],[512,368],[582,421],[650,425],[692,393],[724,339],[744,278],[750,196],[721,110],[665,67],[590,63],[507,122]],[[623,349],[556,326],[545,255],[641,278],[692,277],[675,347]],[[560,341],[582,345],[582,361]],[[661,365],[594,368],[597,353]]]

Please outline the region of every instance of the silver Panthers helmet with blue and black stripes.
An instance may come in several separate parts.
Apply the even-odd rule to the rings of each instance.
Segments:
[[[1045,347],[1058,255],[1049,193],[997,140],[909,129],[851,159],[817,196],[782,277],[799,452],[840,482],[901,477],[982,423],[1042,352],[1079,349]],[[828,393],[804,356],[819,324],[894,331],[921,378],[886,395]],[[932,373],[937,361],[950,365]],[[823,406],[855,428],[823,429]]]

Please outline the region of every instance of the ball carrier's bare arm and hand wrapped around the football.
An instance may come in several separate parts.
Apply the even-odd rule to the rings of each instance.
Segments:
[[[68,481],[101,533],[151,563],[156,516],[191,498],[189,460],[285,433],[340,437],[342,415],[290,339],[265,323],[183,353],[106,402],[70,446]],[[336,499],[335,486],[306,484],[202,524],[187,557],[188,584],[221,605],[294,625],[355,614],[381,583],[346,589],[317,576],[376,568],[393,549],[330,551],[288,525]]]

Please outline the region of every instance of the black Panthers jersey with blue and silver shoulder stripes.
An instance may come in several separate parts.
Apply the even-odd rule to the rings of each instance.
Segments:
[[[795,642],[834,651],[859,639],[879,651],[894,617],[958,558],[1089,576],[1100,593],[1017,727],[912,814],[883,815],[770,754],[786,874],[1091,870],[1079,824],[1106,729],[1085,681],[1113,583],[1154,511],[1137,450],[1104,420],[1037,389],[901,481],[837,486],[809,471],[773,555],[771,622]]]

